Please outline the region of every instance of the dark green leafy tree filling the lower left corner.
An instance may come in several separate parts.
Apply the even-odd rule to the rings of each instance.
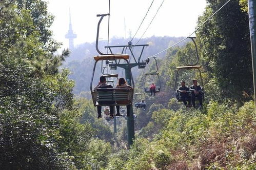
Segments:
[[[0,166],[73,167],[71,157],[57,152],[54,139],[60,123],[58,112],[52,109],[54,91],[33,77],[27,66],[17,63],[1,64],[0,78]]]

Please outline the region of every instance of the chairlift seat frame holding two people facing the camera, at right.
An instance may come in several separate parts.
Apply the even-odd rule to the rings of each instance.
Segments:
[[[197,59],[196,59],[196,63],[194,63],[193,65],[176,67],[177,72],[176,72],[176,77],[175,77],[174,93],[175,93],[176,99],[178,101],[182,101],[180,93],[178,91],[176,91],[177,90],[177,83],[179,83],[178,82],[178,77],[179,77],[179,71],[180,70],[198,70],[199,71],[200,80],[201,80],[200,85],[202,86],[202,91],[200,91],[200,93],[202,94],[202,99],[204,99],[204,83],[203,83],[202,74],[201,74],[201,71],[200,71],[201,66],[197,65],[198,62],[199,62],[199,54],[198,54],[198,48],[197,48],[195,40],[194,40],[194,38],[196,38],[196,37],[188,37],[188,38],[190,38],[194,43]],[[188,101],[188,98],[185,98],[185,99],[186,99],[186,101]],[[195,97],[195,100],[199,100],[198,97]]]

